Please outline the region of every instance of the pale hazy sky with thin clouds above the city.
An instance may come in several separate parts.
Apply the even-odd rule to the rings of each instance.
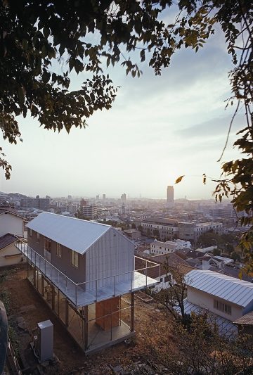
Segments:
[[[13,166],[10,181],[1,172],[0,191],[165,198],[167,185],[186,174],[174,187],[175,198],[211,198],[214,184],[202,185],[202,173],[220,175],[216,160],[233,110],[225,110],[232,65],[221,32],[198,53],[176,53],[160,77],[145,63],[140,68],[143,75],[135,79],[120,67],[109,70],[121,88],[112,109],[95,113],[86,129],[58,134],[21,117],[23,142],[15,146],[0,139]],[[72,87],[79,88],[84,77],[72,75]],[[238,155],[233,134],[242,115],[223,161]]]

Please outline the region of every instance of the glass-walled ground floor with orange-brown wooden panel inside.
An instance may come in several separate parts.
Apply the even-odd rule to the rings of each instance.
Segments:
[[[76,307],[30,262],[27,277],[85,352],[105,348],[134,334],[134,293]]]

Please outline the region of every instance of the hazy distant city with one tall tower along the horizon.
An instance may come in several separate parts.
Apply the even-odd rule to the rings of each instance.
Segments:
[[[165,190],[165,189],[164,189]],[[165,195],[165,194],[164,194]],[[243,212],[235,212],[233,205],[214,199],[174,200],[174,186],[167,186],[167,198],[107,198],[105,193],[95,198],[46,196],[28,197],[20,193],[0,192],[0,204],[9,205],[27,221],[40,212],[52,212],[67,217],[79,217],[114,224],[117,227],[140,229],[142,234],[161,241],[175,239],[192,241],[207,231],[216,234],[235,231],[235,222]],[[236,231],[241,228],[237,227]]]

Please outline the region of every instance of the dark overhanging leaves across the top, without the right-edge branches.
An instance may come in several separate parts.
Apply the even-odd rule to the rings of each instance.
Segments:
[[[95,110],[109,109],[117,87],[103,74],[104,61],[107,66],[121,63],[126,74],[139,77],[132,52],[140,51],[137,60],[148,59],[160,75],[176,50],[185,46],[197,51],[203,46],[217,22],[235,38],[236,30],[226,26],[226,11],[235,13],[237,1],[180,0],[174,23],[167,25],[163,19],[172,4],[171,0],[1,0],[4,139],[16,143],[20,138],[16,117],[26,117],[28,111],[46,129],[69,132],[71,127],[85,127],[85,119]],[[233,22],[229,20],[230,25]],[[70,91],[72,70],[85,78],[77,91]]]

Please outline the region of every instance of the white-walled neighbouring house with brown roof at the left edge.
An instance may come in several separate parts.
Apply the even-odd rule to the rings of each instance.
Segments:
[[[0,267],[16,265],[24,257],[16,248],[16,236],[24,236],[24,220],[12,208],[0,206]]]

